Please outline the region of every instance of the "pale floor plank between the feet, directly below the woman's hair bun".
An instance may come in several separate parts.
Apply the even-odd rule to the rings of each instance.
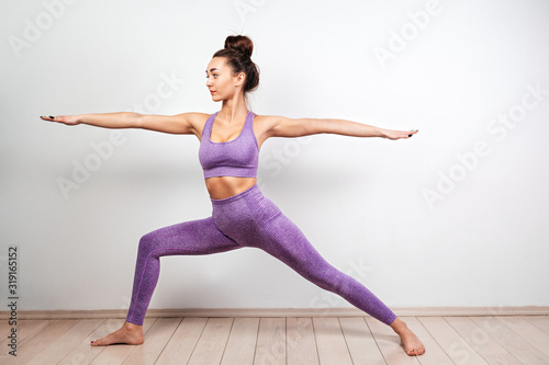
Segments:
[[[221,364],[254,364],[258,330],[259,318],[235,318]]]

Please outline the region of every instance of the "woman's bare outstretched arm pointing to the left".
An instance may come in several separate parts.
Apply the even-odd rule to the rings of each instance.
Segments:
[[[103,128],[142,128],[171,134],[194,134],[203,127],[208,117],[204,113],[182,113],[178,115],[153,115],[133,112],[98,113],[79,115],[41,116],[43,121],[66,125],[88,124]]]

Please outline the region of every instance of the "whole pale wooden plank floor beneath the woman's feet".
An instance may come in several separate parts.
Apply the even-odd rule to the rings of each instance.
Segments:
[[[90,346],[123,319],[0,323],[0,364],[549,364],[549,316],[401,317],[424,342],[404,354],[391,328],[370,317],[147,318],[138,346]]]

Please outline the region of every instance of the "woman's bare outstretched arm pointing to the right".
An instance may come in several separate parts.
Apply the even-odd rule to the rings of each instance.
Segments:
[[[392,130],[345,119],[288,118],[266,116],[266,137],[302,137],[335,134],[352,137],[410,138],[417,130]]]

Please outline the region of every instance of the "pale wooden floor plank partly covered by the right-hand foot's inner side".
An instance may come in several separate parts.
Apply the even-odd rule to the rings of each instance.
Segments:
[[[391,327],[372,317],[366,317],[365,320],[388,364],[419,364],[416,356],[406,355],[401,338],[394,333]]]

